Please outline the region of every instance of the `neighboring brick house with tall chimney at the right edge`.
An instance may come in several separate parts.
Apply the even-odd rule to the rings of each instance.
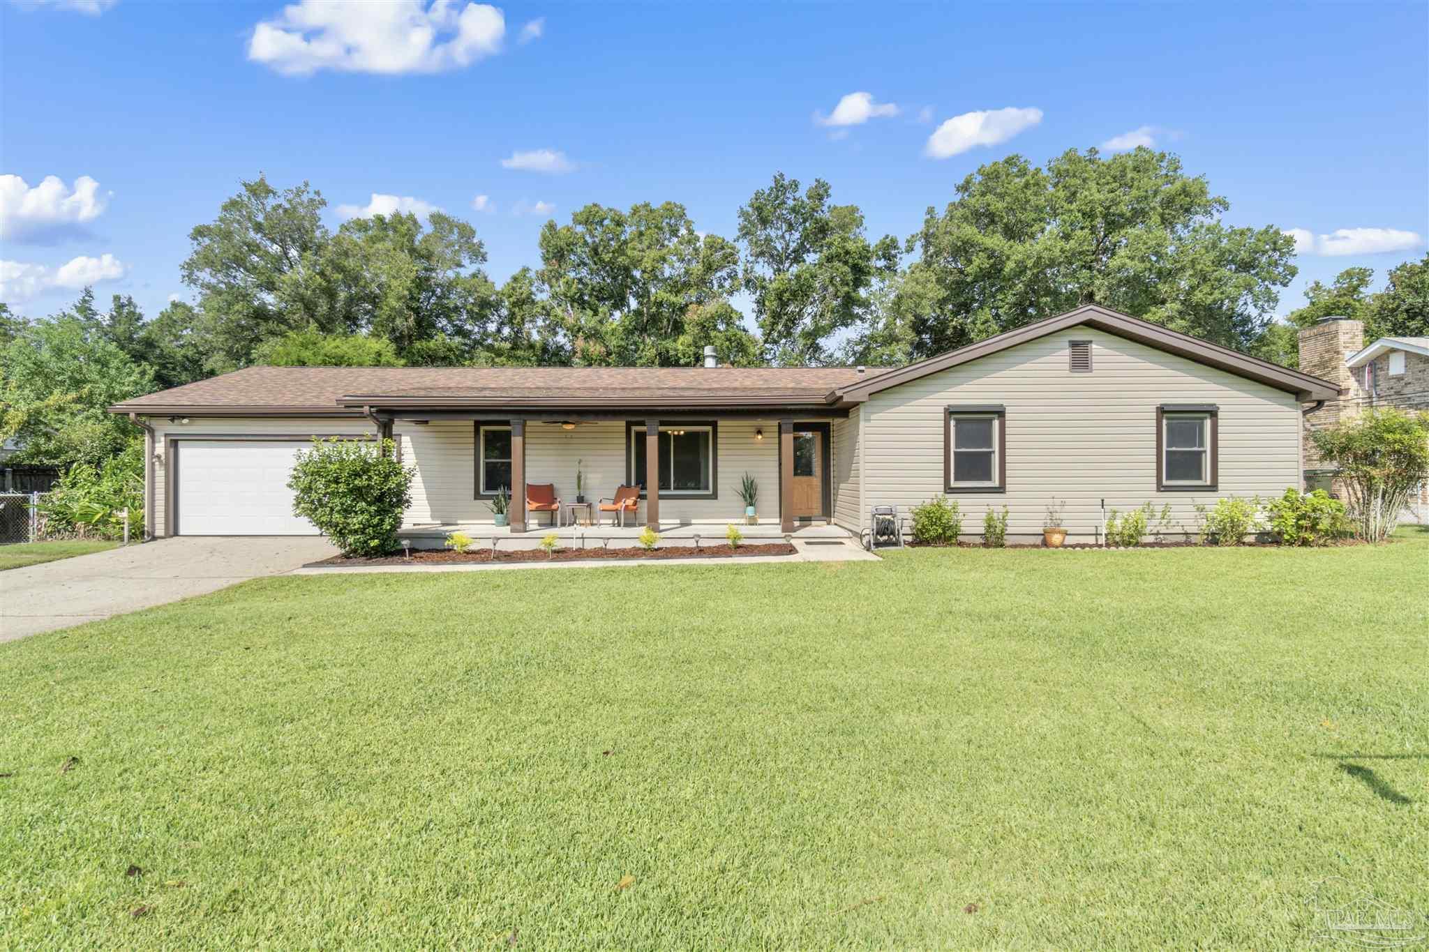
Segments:
[[[1326,317],[1300,331],[1300,370],[1340,385],[1338,400],[1305,414],[1305,488],[1342,495],[1335,470],[1315,452],[1310,432],[1369,407],[1429,411],[1429,337],[1382,337],[1365,347],[1365,324]],[[1429,482],[1410,498],[1413,517],[1429,522]]]

